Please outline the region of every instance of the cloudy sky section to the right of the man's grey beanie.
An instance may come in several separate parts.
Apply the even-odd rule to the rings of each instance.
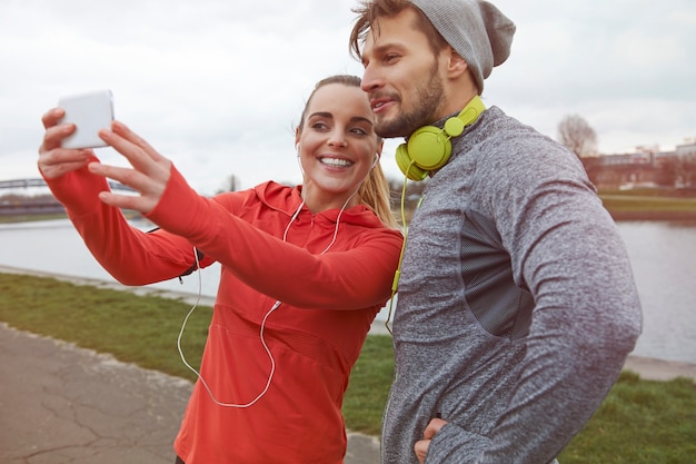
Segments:
[[[692,2],[497,1],[517,26],[513,56],[485,96],[556,136],[578,113],[605,154],[638,145],[666,149],[696,136],[696,43]]]

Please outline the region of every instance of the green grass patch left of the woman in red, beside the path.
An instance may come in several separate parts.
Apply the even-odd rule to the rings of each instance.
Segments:
[[[170,298],[0,274],[0,320],[193,381],[176,344],[190,307]],[[187,324],[183,347],[193,366],[200,361],[211,314],[212,308],[201,306]]]

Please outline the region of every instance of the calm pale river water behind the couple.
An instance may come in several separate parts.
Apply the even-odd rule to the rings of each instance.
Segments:
[[[146,224],[141,225],[147,228]],[[643,304],[644,328],[635,355],[696,364],[696,224],[619,223]],[[0,266],[113,282],[66,220],[0,225]],[[201,294],[215,297],[219,266],[201,273]],[[197,294],[189,276],[153,284]],[[379,318],[385,318],[382,310]]]

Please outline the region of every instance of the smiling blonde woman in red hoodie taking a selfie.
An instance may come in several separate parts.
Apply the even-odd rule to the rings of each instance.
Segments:
[[[61,109],[43,117],[39,169],[113,277],[145,285],[221,264],[177,462],[342,462],[342,396],[401,247],[359,86],[348,76],[316,86],[295,136],[301,186],[268,181],[211,199],[121,122],[100,137],[132,169],[61,149],[74,127],[59,124]],[[140,196],[110,192],[107,177]],[[160,229],[130,227],[120,208]]]

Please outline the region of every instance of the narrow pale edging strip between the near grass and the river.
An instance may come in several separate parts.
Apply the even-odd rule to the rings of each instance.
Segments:
[[[16,275],[29,275],[36,277],[52,277],[58,280],[69,282],[74,285],[89,285],[97,288],[116,289],[120,292],[131,292],[140,296],[159,296],[163,298],[179,299],[189,304],[193,304],[198,300],[198,304],[202,306],[212,307],[215,304],[215,297],[191,295],[182,292],[163,290],[158,288],[148,287],[128,287],[116,282],[99,280],[86,277],[74,277],[54,273],[46,273],[40,270],[22,269],[9,266],[0,266],[0,273],[16,274]],[[372,322],[369,335],[389,335],[385,327],[384,320]],[[628,355],[624,369],[635,372],[642,379],[646,381],[670,381],[676,377],[692,378],[696,383],[696,364],[659,359],[638,355]]]

